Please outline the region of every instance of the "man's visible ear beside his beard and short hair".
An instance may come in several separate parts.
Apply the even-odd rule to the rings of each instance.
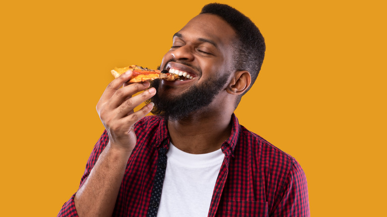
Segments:
[[[251,84],[251,75],[248,71],[236,71],[227,86],[227,93],[232,95],[243,94]]]

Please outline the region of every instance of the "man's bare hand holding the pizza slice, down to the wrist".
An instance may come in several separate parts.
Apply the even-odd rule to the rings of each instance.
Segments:
[[[136,144],[133,124],[149,113],[153,104],[148,104],[136,112],[133,109],[156,94],[156,90],[150,88],[132,97],[147,89],[150,84],[149,82],[125,84],[131,75],[132,71],[129,70],[114,79],[102,94],[96,107],[108,132],[111,148],[128,152],[131,152]]]

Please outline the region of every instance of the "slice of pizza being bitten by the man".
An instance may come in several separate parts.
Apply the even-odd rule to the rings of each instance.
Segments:
[[[141,83],[144,81],[152,81],[154,79],[165,79],[168,81],[174,81],[180,79],[180,76],[177,74],[169,73],[164,70],[161,72],[160,70],[153,70],[148,68],[143,68],[138,65],[129,65],[124,68],[114,68],[111,72],[115,78],[119,77],[121,74],[125,73],[128,70],[132,70],[133,74],[129,83]],[[164,73],[166,72],[166,73]]]

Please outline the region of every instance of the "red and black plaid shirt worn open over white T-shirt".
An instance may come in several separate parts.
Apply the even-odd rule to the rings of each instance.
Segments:
[[[137,144],[129,158],[113,216],[146,217],[157,213],[165,153],[170,142],[166,121],[146,116],[135,124]],[[108,143],[106,131],[95,145],[81,183]],[[222,144],[225,154],[212,195],[208,217],[309,217],[308,186],[300,164],[288,154],[239,125]],[[153,190],[153,191],[152,191]],[[184,209],[184,208],[183,208]],[[74,195],[60,217],[76,217]]]

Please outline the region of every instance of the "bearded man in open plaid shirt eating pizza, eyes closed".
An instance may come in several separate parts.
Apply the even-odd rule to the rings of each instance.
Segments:
[[[204,6],[160,65],[192,79],[149,88],[126,85],[128,71],[108,85],[97,104],[106,130],[59,216],[309,216],[300,165],[233,114],[264,51],[249,18]],[[144,117],[152,109],[157,116]]]

